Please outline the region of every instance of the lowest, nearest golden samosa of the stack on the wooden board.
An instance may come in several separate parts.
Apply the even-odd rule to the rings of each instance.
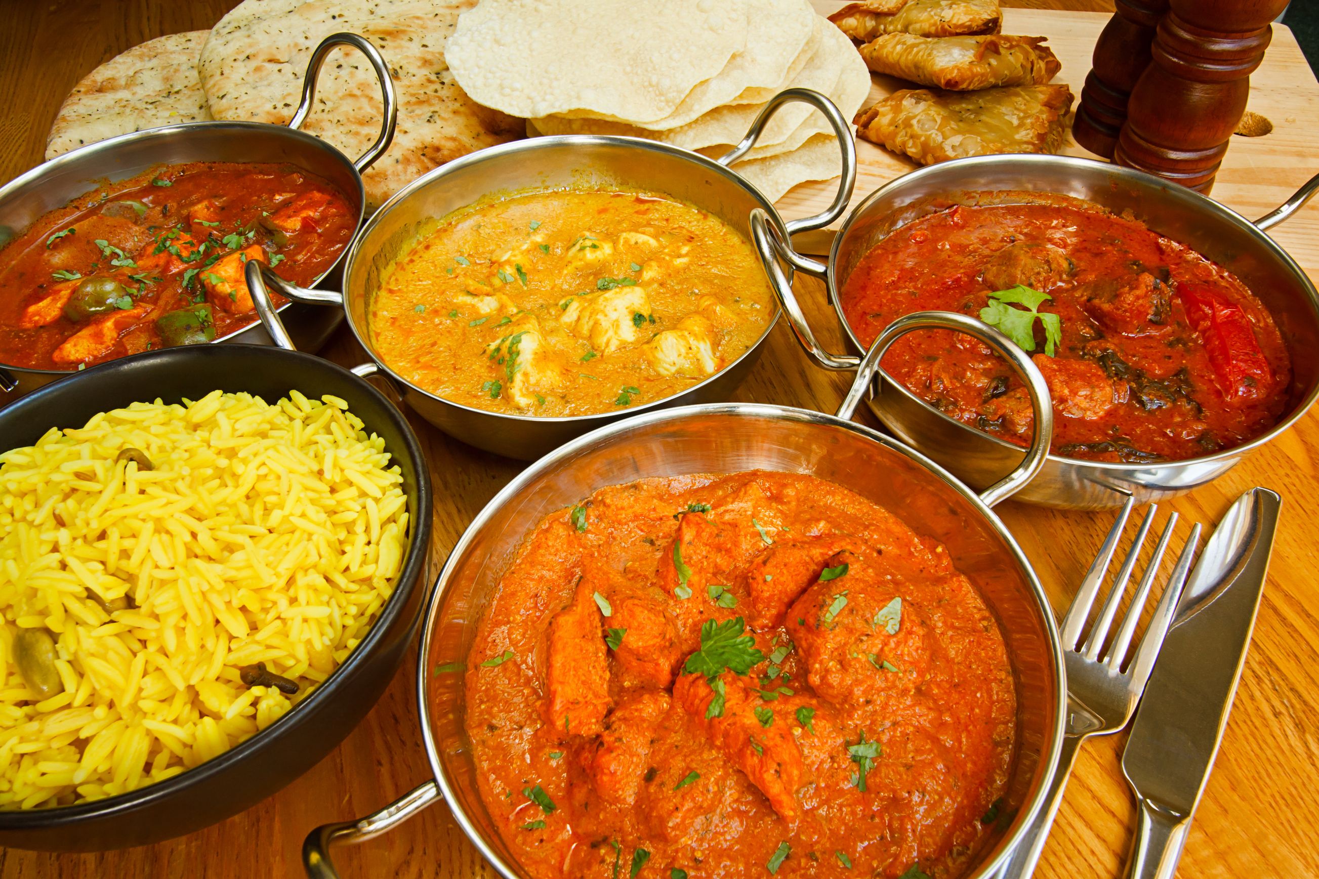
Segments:
[[[1054,153],[1071,103],[1067,86],[902,90],[852,121],[865,140],[933,165],[963,156]]]

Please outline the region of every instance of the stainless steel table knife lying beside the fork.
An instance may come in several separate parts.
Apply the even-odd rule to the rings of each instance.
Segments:
[[[1173,879],[1232,710],[1282,498],[1250,489],[1186,584],[1136,712],[1122,774],[1140,808],[1128,879]]]

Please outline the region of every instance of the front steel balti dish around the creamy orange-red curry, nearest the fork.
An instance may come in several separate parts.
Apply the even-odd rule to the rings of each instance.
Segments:
[[[905,332],[927,328],[981,339],[1021,372],[1030,390],[1039,419],[1034,443],[1008,478],[981,494],[900,440],[848,420],[888,345]],[[966,879],[993,876],[1042,807],[1062,746],[1066,681],[1049,601],[991,507],[1038,473],[1051,438],[1049,387],[1025,352],[966,315],[918,312],[894,322],[876,340],[838,415],[756,403],[656,410],[601,427],[542,457],[477,514],[431,594],[417,659],[417,700],[434,778],[375,814],[313,830],[302,850],[307,875],[335,879],[331,846],[369,839],[443,800],[499,875],[526,876],[500,841],[477,792],[477,770],[463,729],[463,677],[434,669],[468,655],[491,594],[526,531],[543,515],[596,489],[646,477],[768,469],[831,480],[893,510],[917,532],[947,547],[998,618],[1018,700],[1016,755],[1002,807],[1002,814],[1012,817],[989,832]]]

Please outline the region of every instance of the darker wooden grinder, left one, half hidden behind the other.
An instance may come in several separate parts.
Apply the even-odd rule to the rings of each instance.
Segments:
[[[1117,134],[1126,121],[1126,101],[1150,65],[1154,30],[1167,12],[1167,0],[1117,0],[1117,12],[1095,43],[1080,107],[1072,124],[1076,142],[1113,158]]]

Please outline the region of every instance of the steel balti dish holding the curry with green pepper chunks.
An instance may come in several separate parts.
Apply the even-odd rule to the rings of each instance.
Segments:
[[[311,112],[321,66],[336,46],[352,46],[367,55],[380,79],[384,98],[380,136],[356,161],[319,137],[298,130]],[[186,123],[121,134],[65,153],[0,187],[0,246],[47,211],[61,208],[99,186],[136,177],[158,165],[189,162],[295,165],[330,181],[348,196],[356,210],[356,224],[360,225],[367,210],[361,174],[389,148],[394,138],[397,116],[389,66],[376,47],[357,34],[331,34],[311,53],[302,83],[302,100],[288,127],[266,123]],[[317,278],[317,282],[335,271],[342,260],[343,254]],[[311,351],[324,344],[340,320],[338,314],[293,302],[284,303],[280,311],[284,312],[298,344]],[[260,323],[212,341],[270,344]],[[25,369],[0,362],[0,389],[25,394],[67,374],[66,370]]]

